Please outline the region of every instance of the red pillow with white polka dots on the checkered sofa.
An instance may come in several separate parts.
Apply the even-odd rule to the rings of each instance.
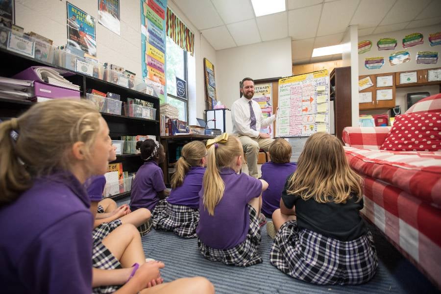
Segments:
[[[380,150],[441,151],[441,112],[397,115]]]

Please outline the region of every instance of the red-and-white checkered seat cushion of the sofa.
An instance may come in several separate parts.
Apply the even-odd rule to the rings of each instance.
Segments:
[[[344,147],[356,172],[441,207],[441,152],[385,151]]]

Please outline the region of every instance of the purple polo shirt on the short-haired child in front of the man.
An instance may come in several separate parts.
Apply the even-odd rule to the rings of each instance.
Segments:
[[[262,193],[262,213],[272,218],[274,210],[280,208],[280,195],[287,177],[295,172],[297,164],[267,162],[262,165],[262,179],[268,182],[268,189]]]

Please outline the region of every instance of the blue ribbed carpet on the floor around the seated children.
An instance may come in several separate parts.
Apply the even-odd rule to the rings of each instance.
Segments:
[[[143,236],[146,257],[161,260],[166,267],[161,270],[165,281],[181,277],[203,276],[216,288],[216,293],[401,293],[400,287],[380,261],[374,278],[357,286],[317,286],[295,280],[270,264],[272,240],[262,227],[262,264],[248,268],[226,266],[204,259],[196,239],[183,239],[171,232],[152,230]]]

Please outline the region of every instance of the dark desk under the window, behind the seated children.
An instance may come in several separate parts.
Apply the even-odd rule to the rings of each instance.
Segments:
[[[166,158],[164,160],[164,163],[162,164],[162,172],[164,172],[164,183],[170,184],[171,182],[172,172],[169,173],[169,168],[174,168],[174,164],[177,161],[176,156],[180,155],[180,148],[191,141],[203,141],[213,138],[213,136],[196,134],[161,136],[161,143],[164,146],[164,151],[166,153]]]

